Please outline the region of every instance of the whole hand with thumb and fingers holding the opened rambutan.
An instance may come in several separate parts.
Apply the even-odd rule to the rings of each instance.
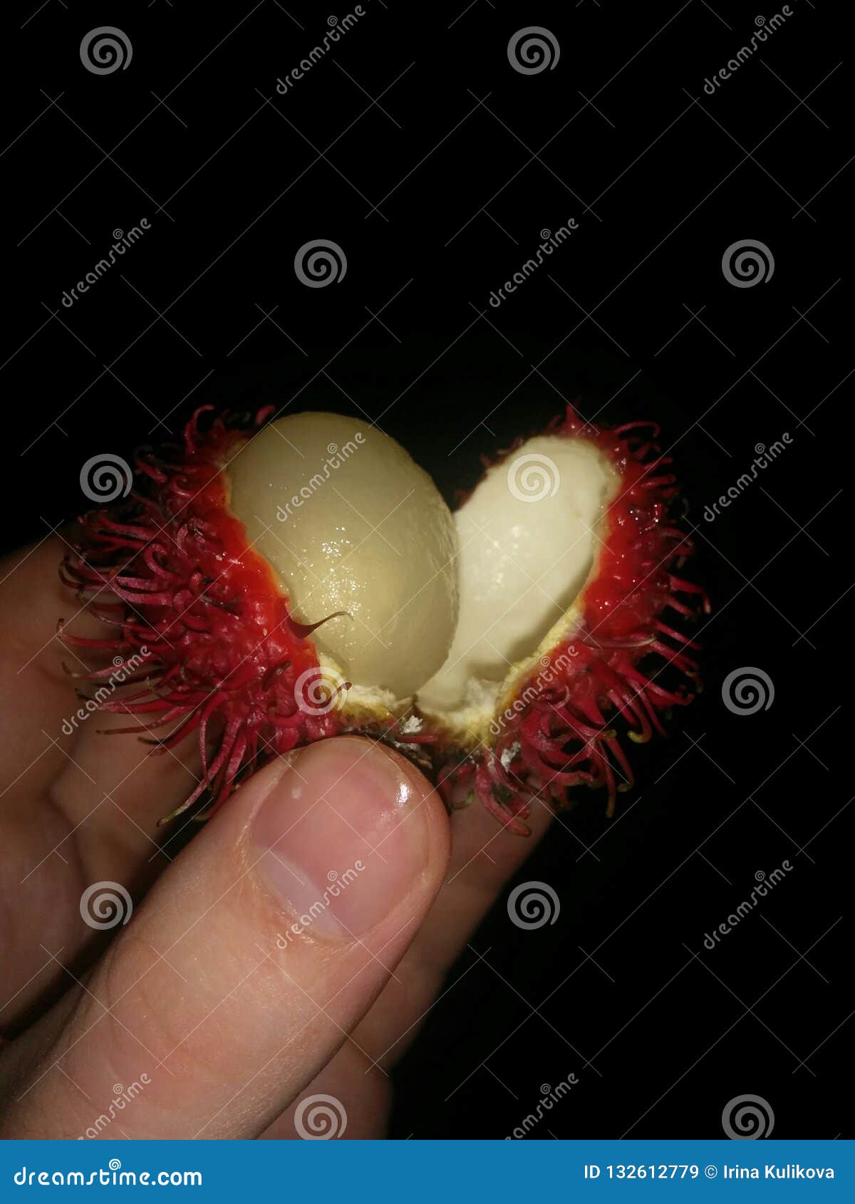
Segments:
[[[126,715],[67,722],[61,662],[88,666],[57,619],[102,628],[63,551],[0,566],[0,1138],[92,1135],[141,1082],[98,1135],[296,1138],[325,1094],[342,1135],[383,1137],[390,1070],[547,809],[529,840],[477,805],[449,819],[403,757],[338,737],[275,759],[172,860],[157,821],[197,752],[99,734]],[[95,884],[129,892],[129,922],[84,920]]]

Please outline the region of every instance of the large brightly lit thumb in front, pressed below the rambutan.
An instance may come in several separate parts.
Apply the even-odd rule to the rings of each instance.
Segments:
[[[4,1131],[256,1135],[394,974],[448,854],[430,784],[378,744],[343,737],[269,766],[122,929]]]

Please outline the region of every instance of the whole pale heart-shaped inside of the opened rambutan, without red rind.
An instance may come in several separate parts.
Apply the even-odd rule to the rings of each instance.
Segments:
[[[478,738],[514,674],[573,630],[620,477],[585,439],[543,435],[490,468],[454,517],[394,439],[295,414],[228,467],[231,508],[272,565],[348,704],[417,696]],[[332,674],[335,677],[335,672]]]

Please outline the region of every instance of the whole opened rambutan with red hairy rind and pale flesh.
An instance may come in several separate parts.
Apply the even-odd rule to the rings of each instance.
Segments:
[[[136,666],[138,689],[101,709],[154,752],[195,733],[201,781],[173,815],[342,732],[393,743],[449,808],[477,797],[521,834],[535,801],[580,785],[611,813],[632,781],[612,724],[645,742],[690,701],[661,672],[692,679],[696,645],[662,616],[707,606],[676,576],[691,545],[655,426],[568,407],[485,461],[453,515],[375,426],[210,409],[79,519],[61,569],[114,632],[64,638]]]

